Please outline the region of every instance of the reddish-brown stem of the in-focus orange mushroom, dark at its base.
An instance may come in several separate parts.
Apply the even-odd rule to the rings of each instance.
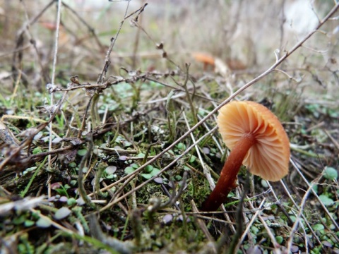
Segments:
[[[202,210],[206,212],[215,211],[226,201],[228,193],[237,187],[237,174],[242,161],[252,145],[256,143],[256,138],[252,133],[245,133],[234,145],[230,155],[225,162],[220,173],[220,178],[208,199],[203,202]]]

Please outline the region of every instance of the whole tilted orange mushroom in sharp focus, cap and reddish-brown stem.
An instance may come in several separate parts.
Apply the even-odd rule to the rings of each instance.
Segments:
[[[252,174],[279,181],[288,174],[290,142],[277,116],[256,102],[230,102],[219,110],[218,127],[231,152],[204,211],[215,211],[237,187],[244,164]]]

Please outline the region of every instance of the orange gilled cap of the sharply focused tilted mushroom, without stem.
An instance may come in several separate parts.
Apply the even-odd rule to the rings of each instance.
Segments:
[[[218,127],[222,140],[232,150],[246,133],[256,142],[243,164],[252,174],[279,181],[288,174],[290,142],[277,116],[256,102],[230,102],[219,110]]]

